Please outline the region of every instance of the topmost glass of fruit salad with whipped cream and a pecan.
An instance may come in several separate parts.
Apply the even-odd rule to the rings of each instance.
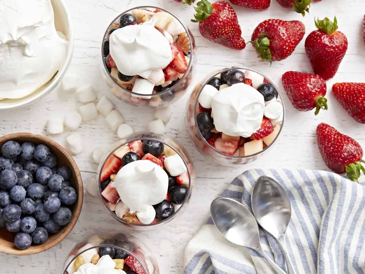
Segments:
[[[134,106],[168,106],[192,78],[195,42],[174,15],[152,7],[124,12],[102,43],[103,75],[116,97]]]

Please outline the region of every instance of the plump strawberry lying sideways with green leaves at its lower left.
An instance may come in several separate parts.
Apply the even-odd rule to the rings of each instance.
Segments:
[[[293,53],[303,39],[306,27],[300,21],[268,19],[258,24],[250,43],[264,61],[280,61]]]

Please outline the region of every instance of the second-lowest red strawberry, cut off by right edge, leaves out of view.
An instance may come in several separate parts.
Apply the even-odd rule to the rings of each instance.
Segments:
[[[335,83],[332,92],[352,118],[365,123],[365,83]]]

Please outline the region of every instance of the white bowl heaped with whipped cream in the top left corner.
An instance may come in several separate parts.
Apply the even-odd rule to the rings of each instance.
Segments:
[[[71,61],[73,34],[64,0],[0,5],[0,110],[6,110],[54,90]]]

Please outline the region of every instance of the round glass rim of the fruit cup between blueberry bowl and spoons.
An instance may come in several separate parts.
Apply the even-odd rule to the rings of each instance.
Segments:
[[[141,135],[142,136],[142,134],[156,134],[156,133],[154,133],[154,132],[135,132],[135,133],[133,133],[132,135],[133,136],[135,136],[135,135]],[[130,135],[130,136],[132,136],[132,135]],[[128,136],[129,137],[129,136]],[[127,139],[128,137],[126,137],[126,138],[124,138],[124,139]],[[158,136],[157,136],[158,137]],[[110,153],[108,153],[108,156],[107,157],[105,157],[105,161],[104,161],[104,163],[103,163],[103,166],[101,167],[101,170],[103,170],[103,168],[104,168],[104,165],[105,165],[105,163],[106,163],[106,161],[107,161],[107,159],[117,150],[117,149],[119,149],[120,147],[122,147],[123,145],[127,145],[127,144],[129,144],[130,142],[134,142],[134,141],[138,141],[138,140],[153,140],[153,141],[157,141],[157,142],[162,142],[164,145],[167,145],[167,146],[169,146],[171,149],[173,149],[173,151],[174,152],[176,152],[179,156],[180,156],[180,158],[183,160],[183,162],[184,162],[184,165],[185,165],[185,167],[187,168],[187,172],[188,172],[188,177],[189,177],[189,186],[188,186],[188,194],[186,195],[186,197],[185,197],[185,199],[184,199],[184,201],[183,201],[183,203],[181,204],[181,206],[180,206],[180,208],[178,208],[178,210],[176,210],[175,211],[175,213],[172,215],[172,217],[175,215],[175,214],[177,214],[182,208],[183,208],[183,206],[185,205],[185,203],[187,202],[187,200],[188,200],[188,198],[191,196],[191,194],[192,194],[192,178],[191,178],[191,174],[190,174],[190,171],[189,171],[189,168],[188,168],[188,163],[185,161],[185,159],[184,159],[184,157],[181,155],[181,153],[180,152],[178,152],[175,148],[173,148],[172,146],[170,146],[170,145],[168,145],[168,144],[166,144],[164,141],[160,141],[160,140],[157,140],[156,139],[156,137],[154,137],[154,138],[148,138],[148,137],[140,137],[140,138],[134,138],[134,139],[132,139],[132,140],[129,140],[129,141],[126,141],[126,142],[123,142],[122,144],[119,144],[116,148],[114,148],[114,149],[112,149],[112,150],[110,150]],[[100,178],[101,178],[101,170],[100,170],[100,172],[99,172],[99,176],[98,176],[98,193],[101,195],[101,192],[102,192],[102,190],[101,190],[101,187],[100,187],[100,182],[101,182],[101,180],[100,180]],[[166,218],[166,219],[164,219],[164,220],[162,220],[162,221],[159,221],[159,222],[157,222],[157,223],[154,223],[154,224],[134,224],[134,223],[129,223],[129,222],[126,222],[126,221],[124,221],[122,218],[120,218],[119,216],[117,216],[115,213],[113,213],[112,212],[112,210],[109,208],[109,206],[107,205],[107,203],[105,202],[105,200],[103,199],[103,195],[101,195],[101,198],[102,198],[102,200],[103,200],[103,203],[104,203],[104,205],[105,205],[105,207],[109,210],[109,212],[117,219],[117,220],[119,220],[119,221],[121,221],[121,222],[123,222],[124,224],[126,224],[126,225],[132,225],[132,226],[136,226],[136,227],[157,227],[158,225],[160,225],[160,224],[164,224],[164,223],[166,223],[166,222],[168,222],[168,221],[170,221],[171,220],[171,218],[170,217],[168,217],[168,218]],[[120,200],[120,199],[119,199]],[[120,200],[120,201],[122,201],[122,200]],[[123,201],[122,201],[123,202]],[[172,203],[172,202],[171,202]]]

